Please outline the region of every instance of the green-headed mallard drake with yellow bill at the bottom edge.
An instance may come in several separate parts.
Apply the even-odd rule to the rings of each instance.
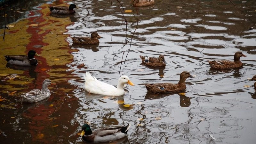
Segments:
[[[88,124],[82,126],[82,140],[87,142],[110,142],[126,137],[126,134],[130,128],[130,124],[127,126],[115,126],[99,128],[92,132]]]

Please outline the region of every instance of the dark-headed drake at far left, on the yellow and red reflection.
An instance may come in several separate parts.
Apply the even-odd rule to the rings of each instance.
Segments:
[[[30,50],[28,55],[4,55],[8,65],[17,66],[36,66],[38,64],[34,56],[40,56],[36,54],[36,51]]]

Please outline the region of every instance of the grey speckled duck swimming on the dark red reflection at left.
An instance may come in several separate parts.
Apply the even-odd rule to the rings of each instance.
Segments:
[[[50,97],[51,92],[48,89],[48,86],[50,84],[55,85],[56,83],[52,83],[51,80],[45,79],[43,81],[41,90],[34,89],[34,90],[31,90],[27,93],[21,94],[20,96],[22,97],[22,101],[27,102],[27,103],[36,103],[36,102],[39,102],[41,100],[44,100],[44,99]]]

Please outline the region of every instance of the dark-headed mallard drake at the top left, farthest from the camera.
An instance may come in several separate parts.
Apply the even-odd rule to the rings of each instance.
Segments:
[[[52,13],[61,14],[61,15],[69,15],[74,14],[76,11],[76,4],[70,4],[69,7],[66,6],[49,6],[49,9]]]

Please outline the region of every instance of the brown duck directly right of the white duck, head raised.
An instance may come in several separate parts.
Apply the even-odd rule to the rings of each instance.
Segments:
[[[189,74],[187,71],[183,71],[180,74],[180,81],[178,84],[173,83],[156,83],[156,84],[145,84],[147,90],[152,93],[169,93],[169,92],[179,92],[186,90],[186,79],[195,78]]]

